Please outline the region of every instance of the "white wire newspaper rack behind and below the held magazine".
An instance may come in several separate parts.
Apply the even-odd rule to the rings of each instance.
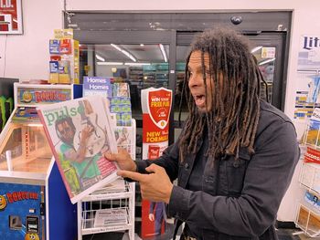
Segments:
[[[130,127],[114,127],[117,146],[126,149],[135,159],[135,120]],[[117,179],[77,203],[78,240],[82,235],[107,232],[128,232],[134,239],[135,183]]]

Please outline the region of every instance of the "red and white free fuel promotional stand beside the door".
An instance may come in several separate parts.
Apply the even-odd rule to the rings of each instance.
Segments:
[[[172,91],[168,89],[143,89],[143,159],[155,160],[168,145],[169,115]],[[165,232],[165,205],[143,201],[142,236],[160,237]],[[160,239],[160,238],[159,238]]]

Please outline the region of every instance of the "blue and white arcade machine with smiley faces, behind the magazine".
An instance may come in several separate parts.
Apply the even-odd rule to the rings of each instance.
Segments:
[[[79,85],[15,83],[15,110],[0,134],[0,233],[15,240],[72,240],[70,203],[36,106],[81,97]]]

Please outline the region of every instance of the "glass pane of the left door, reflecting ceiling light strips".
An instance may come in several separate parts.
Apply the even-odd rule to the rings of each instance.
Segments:
[[[81,59],[83,69],[89,69],[84,71],[83,76],[110,77],[129,84],[135,120],[142,120],[142,89],[168,88],[168,45],[143,42],[139,45],[81,45],[81,51],[82,56],[87,56]]]

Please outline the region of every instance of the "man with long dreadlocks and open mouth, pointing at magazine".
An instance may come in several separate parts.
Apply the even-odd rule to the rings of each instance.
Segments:
[[[246,38],[205,31],[187,57],[178,141],[154,161],[105,155],[140,182],[144,199],[168,203],[185,222],[181,239],[278,239],[273,224],[300,151],[291,120],[260,99],[261,81]]]

